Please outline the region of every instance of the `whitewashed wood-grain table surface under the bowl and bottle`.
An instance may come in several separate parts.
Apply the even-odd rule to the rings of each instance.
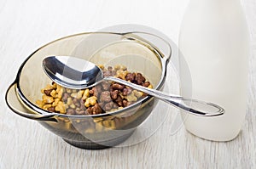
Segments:
[[[178,110],[153,134],[131,146],[85,150],[15,115],[4,101],[18,67],[35,49],[56,38],[118,24],[148,25],[177,42],[189,0],[0,0],[0,169],[9,168],[256,168],[256,1],[241,0],[252,37],[246,121],[226,143],[197,138],[175,128]],[[172,69],[172,65],[169,66]],[[178,93],[170,71],[169,92]]]

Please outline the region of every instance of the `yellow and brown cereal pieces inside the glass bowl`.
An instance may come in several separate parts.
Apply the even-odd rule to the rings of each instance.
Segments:
[[[98,66],[102,69],[103,76],[116,76],[127,82],[153,88],[141,73],[131,72],[124,65],[108,66],[108,68],[103,65]],[[43,93],[42,99],[36,102],[40,108],[66,115],[104,114],[123,109],[147,95],[131,87],[107,81],[83,90],[61,87],[52,82],[51,85],[44,87],[41,93]]]

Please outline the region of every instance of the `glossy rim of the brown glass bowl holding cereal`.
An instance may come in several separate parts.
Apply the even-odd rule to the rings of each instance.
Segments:
[[[17,72],[16,78],[15,78],[15,82],[16,83],[16,93],[17,93],[17,97],[19,97],[19,99],[21,99],[21,104],[26,104],[26,108],[31,109],[32,111],[35,111],[41,115],[56,115],[56,116],[61,116],[61,117],[69,117],[69,118],[88,118],[88,117],[105,117],[105,116],[109,116],[109,115],[117,115],[119,113],[123,113],[125,112],[125,110],[131,110],[132,108],[138,107],[142,104],[146,104],[148,101],[154,99],[153,96],[147,95],[145,98],[140,99],[139,101],[137,101],[134,104],[131,104],[121,110],[114,110],[112,112],[108,112],[108,113],[102,113],[102,114],[97,114],[97,115],[67,115],[67,114],[61,114],[61,113],[55,113],[55,112],[50,112],[48,110],[43,110],[42,108],[39,108],[38,105],[33,104],[30,100],[26,99],[26,96],[24,95],[24,93],[22,93],[22,90],[20,88],[20,75],[21,72],[23,70],[23,67],[26,65],[26,62],[32,58],[32,56],[34,54],[36,54],[39,50],[41,50],[42,48],[45,48],[47,46],[49,46],[50,44],[54,43],[54,42],[58,42],[70,37],[78,37],[78,36],[83,36],[83,35],[90,35],[90,34],[113,34],[113,35],[119,35],[119,36],[127,36],[127,35],[132,35],[133,33],[143,33],[143,34],[148,34],[154,37],[158,37],[160,38],[163,42],[166,42],[166,44],[168,45],[168,47],[170,48],[170,54],[168,56],[164,56],[163,54],[160,53],[159,49],[154,47],[154,45],[152,44],[148,44],[148,42],[143,41],[142,39],[138,39],[141,42],[148,44],[148,47],[151,47],[152,49],[154,49],[154,52],[157,53],[155,54],[157,56],[157,58],[160,60],[160,64],[161,64],[161,77],[160,77],[160,81],[158,82],[157,86],[154,87],[155,89],[160,89],[161,87],[163,87],[164,82],[166,81],[166,66],[172,56],[172,47],[170,45],[169,42],[167,42],[164,38],[158,36],[158,35],[154,35],[152,33],[148,33],[148,32],[144,32],[144,31],[131,31],[131,32],[125,32],[125,33],[119,33],[119,32],[111,32],[111,31],[90,31],[90,32],[82,32],[82,33],[77,33],[77,34],[73,34],[73,35],[69,35],[66,37],[61,37],[58,39],[55,39],[54,41],[48,42],[46,44],[44,44],[43,46],[41,46],[40,48],[36,49],[32,54],[30,54],[24,61],[23,63],[20,65],[20,68]],[[143,45],[145,45],[143,44]]]

